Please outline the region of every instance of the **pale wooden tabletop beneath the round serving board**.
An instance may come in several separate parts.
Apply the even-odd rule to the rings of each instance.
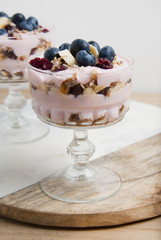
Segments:
[[[24,95],[29,97],[28,91]],[[7,90],[0,89],[0,102],[7,95]],[[132,96],[133,100],[161,106],[161,94],[141,94]],[[160,240],[161,239],[161,217],[146,221],[126,224],[117,227],[104,227],[93,229],[67,229],[56,227],[43,227],[25,224],[5,217],[0,217],[0,240]]]

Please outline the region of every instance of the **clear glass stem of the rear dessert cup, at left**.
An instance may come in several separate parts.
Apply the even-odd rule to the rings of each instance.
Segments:
[[[8,128],[21,128],[28,125],[28,121],[22,116],[22,109],[26,105],[26,99],[20,91],[19,83],[10,83],[9,94],[4,100],[7,112],[5,125]]]

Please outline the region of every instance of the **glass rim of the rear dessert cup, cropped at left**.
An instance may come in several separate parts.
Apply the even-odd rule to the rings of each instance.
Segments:
[[[46,26],[43,26],[43,25],[46,25]],[[15,39],[15,37],[8,37],[7,34],[4,34],[4,35],[0,36],[0,43],[3,42],[3,41],[8,41],[8,40],[23,41],[23,40],[33,39],[33,38],[37,38],[37,36],[38,36],[39,34],[48,35],[48,34],[51,33],[52,31],[55,31],[55,26],[52,25],[52,24],[50,24],[50,23],[47,23],[47,22],[41,22],[41,21],[40,21],[39,26],[41,26],[41,28],[39,28],[39,29],[43,29],[43,28],[49,27],[49,31],[48,31],[48,32],[45,32],[45,33],[44,33],[44,32],[36,32],[35,34],[28,35],[28,36],[27,36],[27,35],[25,36],[25,34],[27,34],[28,32],[29,32],[29,33],[30,33],[30,32],[34,32],[34,30],[33,30],[33,31],[24,32],[24,33],[22,33],[22,32],[17,33],[17,34],[20,35],[20,36],[21,36],[21,35],[22,35],[22,36],[25,36],[25,38],[22,38],[22,39]],[[36,29],[35,29],[35,30],[36,30]]]

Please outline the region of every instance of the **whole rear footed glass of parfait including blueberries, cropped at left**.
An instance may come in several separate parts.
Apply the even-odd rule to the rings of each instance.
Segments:
[[[44,52],[54,43],[54,29],[38,23],[35,17],[14,14],[11,18],[0,12],[0,83],[8,85],[9,94],[3,107],[5,118],[0,123],[2,143],[35,141],[48,133],[48,128],[22,113],[26,99],[22,83],[28,81],[28,58]]]

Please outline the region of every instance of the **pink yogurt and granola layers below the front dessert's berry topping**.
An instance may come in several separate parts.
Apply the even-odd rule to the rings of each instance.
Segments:
[[[117,56],[113,69],[71,67],[60,72],[29,68],[32,105],[40,118],[58,125],[107,125],[121,119],[129,107],[132,61]],[[82,87],[78,96],[62,92],[65,83]],[[68,86],[68,85],[67,85]]]

